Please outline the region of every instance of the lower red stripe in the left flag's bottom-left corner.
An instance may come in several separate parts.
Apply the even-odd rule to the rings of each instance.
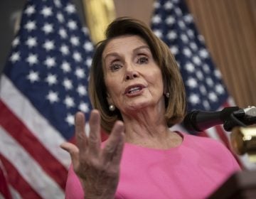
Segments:
[[[24,198],[41,198],[38,193],[36,193],[33,188],[23,179],[23,177],[18,173],[16,168],[0,154],[0,159],[6,168],[6,173],[8,173],[9,183],[20,193]]]

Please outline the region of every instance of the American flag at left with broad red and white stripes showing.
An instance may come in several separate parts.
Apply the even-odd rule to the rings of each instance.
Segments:
[[[94,46],[68,0],[26,2],[1,75],[0,198],[64,198]],[[4,185],[4,182],[5,185]]]

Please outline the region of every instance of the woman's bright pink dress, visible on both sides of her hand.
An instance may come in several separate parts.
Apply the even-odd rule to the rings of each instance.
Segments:
[[[125,144],[115,198],[207,198],[240,166],[223,144],[213,139],[181,134],[183,142],[167,150]],[[66,198],[84,193],[72,166]]]

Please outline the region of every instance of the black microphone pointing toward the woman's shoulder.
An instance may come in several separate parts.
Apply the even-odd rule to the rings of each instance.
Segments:
[[[226,131],[231,131],[233,127],[245,126],[245,124],[255,124],[256,107],[226,107],[218,112],[204,112],[195,110],[186,115],[183,125],[190,131],[204,131],[218,124],[224,124]]]

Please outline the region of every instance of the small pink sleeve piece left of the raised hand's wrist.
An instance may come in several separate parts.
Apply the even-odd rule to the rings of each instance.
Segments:
[[[66,199],[82,199],[84,198],[84,192],[82,190],[82,185],[79,181],[78,176],[73,170],[71,165],[68,170],[68,179],[65,187],[65,198]]]

